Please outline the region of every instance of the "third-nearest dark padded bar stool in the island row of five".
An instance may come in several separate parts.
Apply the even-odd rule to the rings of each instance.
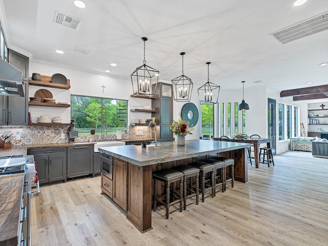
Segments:
[[[213,164],[204,162],[204,161],[196,161],[190,163],[189,166],[198,168],[201,175],[201,201],[204,202],[205,192],[208,190],[212,190],[212,197],[215,195],[215,166]],[[211,173],[211,178],[205,180],[205,175],[207,173]],[[207,183],[206,183],[207,182]]]

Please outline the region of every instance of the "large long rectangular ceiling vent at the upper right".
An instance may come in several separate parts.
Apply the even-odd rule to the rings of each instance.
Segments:
[[[277,38],[281,44],[286,44],[325,30],[328,30],[328,12],[306,19],[270,35]]]

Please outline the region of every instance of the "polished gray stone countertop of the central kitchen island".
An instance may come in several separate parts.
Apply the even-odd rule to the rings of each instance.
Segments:
[[[220,153],[251,146],[239,142],[212,141],[212,140],[187,140],[186,146],[178,147],[176,142],[161,142],[154,146],[141,148],[141,146],[126,145],[114,147],[101,147],[100,152],[112,155],[121,160],[126,160],[136,166],[149,166],[161,162],[187,159],[201,155]]]

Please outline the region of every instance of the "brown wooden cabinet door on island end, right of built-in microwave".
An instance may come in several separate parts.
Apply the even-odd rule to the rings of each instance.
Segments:
[[[114,158],[113,161],[113,200],[119,207],[128,210],[128,162]]]

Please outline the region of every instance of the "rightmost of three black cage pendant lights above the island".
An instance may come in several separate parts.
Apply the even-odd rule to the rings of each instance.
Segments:
[[[220,93],[220,86],[210,82],[210,62],[206,63],[208,66],[207,83],[197,89],[200,104],[217,104]]]

